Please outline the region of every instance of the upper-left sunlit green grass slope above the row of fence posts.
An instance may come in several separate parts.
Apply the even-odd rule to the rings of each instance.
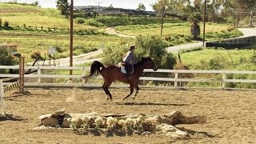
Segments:
[[[10,26],[38,26],[50,28],[70,28],[70,20],[60,15],[56,9],[42,9],[37,6],[22,6],[0,3],[0,18],[10,22]],[[77,24],[74,22],[75,30],[96,29],[98,27]]]

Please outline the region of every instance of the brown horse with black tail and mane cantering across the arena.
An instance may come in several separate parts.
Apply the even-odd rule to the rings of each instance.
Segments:
[[[138,78],[143,73],[144,69],[153,69],[158,70],[158,67],[154,65],[154,62],[151,58],[142,58],[141,61],[134,64],[134,72],[130,74],[130,79],[126,78],[126,74],[121,72],[119,66],[108,65],[104,66],[101,62],[94,61],[90,66],[90,74],[84,78],[94,78],[98,75],[98,73],[102,74],[104,78],[104,84],[102,86],[103,90],[105,91],[107,99],[112,100],[112,95],[110,94],[109,87],[112,82],[119,81],[119,82],[126,82],[130,84],[130,94],[126,95],[122,98],[122,100],[128,98],[134,92],[134,87],[136,88],[136,92],[133,96],[135,98],[136,94],[138,93]]]

